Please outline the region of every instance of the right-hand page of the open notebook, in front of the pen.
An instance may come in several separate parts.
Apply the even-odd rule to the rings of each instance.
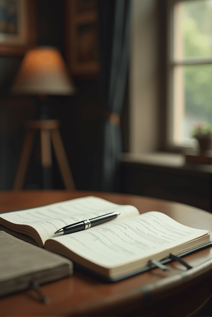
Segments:
[[[149,257],[207,233],[207,230],[177,223],[163,213],[150,211],[130,219],[56,237],[54,241],[93,263],[112,268]]]

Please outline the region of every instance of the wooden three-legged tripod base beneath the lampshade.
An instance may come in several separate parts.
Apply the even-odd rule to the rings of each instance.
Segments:
[[[27,122],[27,134],[23,143],[20,162],[16,172],[13,190],[21,190],[29,164],[30,154],[34,141],[35,130],[41,133],[41,164],[44,171],[52,166],[51,141],[55,150],[56,159],[61,171],[62,179],[67,190],[74,190],[74,181],[68,165],[64,146],[59,132],[58,120],[32,120]],[[45,173],[44,173],[45,174]],[[45,178],[45,175],[44,175]],[[45,184],[45,179],[44,179]],[[45,188],[45,185],[44,185]]]

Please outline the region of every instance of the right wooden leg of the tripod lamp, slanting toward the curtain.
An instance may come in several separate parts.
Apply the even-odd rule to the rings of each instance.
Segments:
[[[58,129],[51,130],[52,143],[55,149],[56,158],[60,167],[63,182],[67,190],[75,190],[74,180],[68,166],[68,160],[62,144],[62,139]]]

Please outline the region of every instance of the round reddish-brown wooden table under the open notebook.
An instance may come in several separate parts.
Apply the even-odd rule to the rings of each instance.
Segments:
[[[11,191],[0,193],[0,211],[17,210],[94,195],[118,204],[132,204],[140,213],[164,212],[178,222],[211,230],[212,215],[183,204],[139,196],[87,191]],[[211,248],[184,257],[192,269],[178,262],[128,279],[104,283],[87,274],[74,275],[41,286],[51,299],[43,304],[33,290],[0,298],[0,316],[188,316],[211,298]]]

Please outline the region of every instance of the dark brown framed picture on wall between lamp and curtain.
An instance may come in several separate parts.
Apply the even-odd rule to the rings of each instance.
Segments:
[[[79,80],[97,79],[97,3],[95,0],[65,1],[65,14],[65,55],[70,74]]]

